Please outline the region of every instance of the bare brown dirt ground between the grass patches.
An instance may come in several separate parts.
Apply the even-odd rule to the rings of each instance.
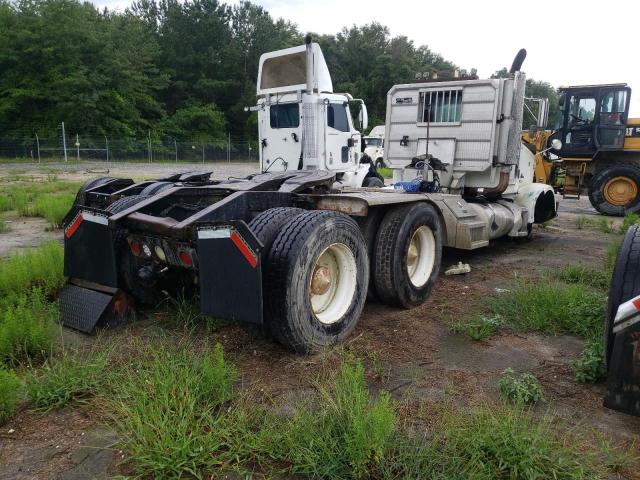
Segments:
[[[230,170],[218,173],[232,175]],[[151,175],[146,170],[144,174]],[[61,178],[78,176],[84,178],[84,173],[60,174]],[[514,275],[541,274],[566,264],[602,265],[608,245],[617,236],[595,228],[577,229],[578,215],[595,216],[596,212],[584,198],[564,200],[559,217],[547,227],[536,228],[530,242],[500,240],[473,252],[446,250],[443,271],[458,261],[469,263],[472,271],[442,275],[430,299],[418,308],[398,310],[368,302],[347,347],[364,360],[372,388],[385,389],[399,401],[491,402],[498,399],[501,372],[511,367],[516,372],[533,372],[540,379],[546,396],[537,407],[541,413],[559,415],[585,432],[595,428],[618,442],[640,438],[640,418],[602,407],[604,384],[575,381],[571,361],[582,349],[581,340],[505,331],[486,342],[473,342],[451,333],[443,322],[468,313],[478,299],[508,289]],[[18,235],[22,245],[42,241],[42,232],[36,230],[35,224],[24,227]],[[60,237],[59,232],[53,234]],[[11,238],[4,235],[0,235],[3,247]],[[18,246],[15,242],[12,245]],[[105,335],[144,336],[156,328],[155,322],[151,316]],[[65,333],[65,338],[69,342],[93,341],[73,332]],[[240,369],[241,388],[263,390],[284,404],[304,393],[309,379],[326,363],[326,354],[296,356],[238,325],[221,327],[207,341],[223,344]],[[1,427],[0,479],[109,478],[120,473],[122,453],[113,446],[115,440],[89,407],[47,414],[25,410]],[[640,477],[627,474],[624,478]]]

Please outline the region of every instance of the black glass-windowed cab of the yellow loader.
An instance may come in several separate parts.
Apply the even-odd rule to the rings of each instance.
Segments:
[[[560,89],[562,118],[554,135],[561,157],[593,157],[599,151],[622,150],[631,100],[626,84]]]

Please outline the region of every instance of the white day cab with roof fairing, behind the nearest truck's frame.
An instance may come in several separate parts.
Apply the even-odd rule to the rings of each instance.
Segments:
[[[260,168],[262,172],[327,170],[343,186],[367,186],[372,165],[362,163],[367,127],[364,102],[334,93],[322,50],[305,45],[265,53],[258,71]]]

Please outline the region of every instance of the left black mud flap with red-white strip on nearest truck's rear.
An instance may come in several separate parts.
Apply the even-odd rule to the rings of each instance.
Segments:
[[[106,215],[78,209],[64,229],[64,274],[107,287],[118,286],[113,230]]]

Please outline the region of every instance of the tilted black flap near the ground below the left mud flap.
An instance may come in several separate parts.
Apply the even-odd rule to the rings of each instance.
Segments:
[[[92,333],[135,319],[132,299],[122,290],[100,290],[67,283],[60,291],[58,305],[65,327]]]

